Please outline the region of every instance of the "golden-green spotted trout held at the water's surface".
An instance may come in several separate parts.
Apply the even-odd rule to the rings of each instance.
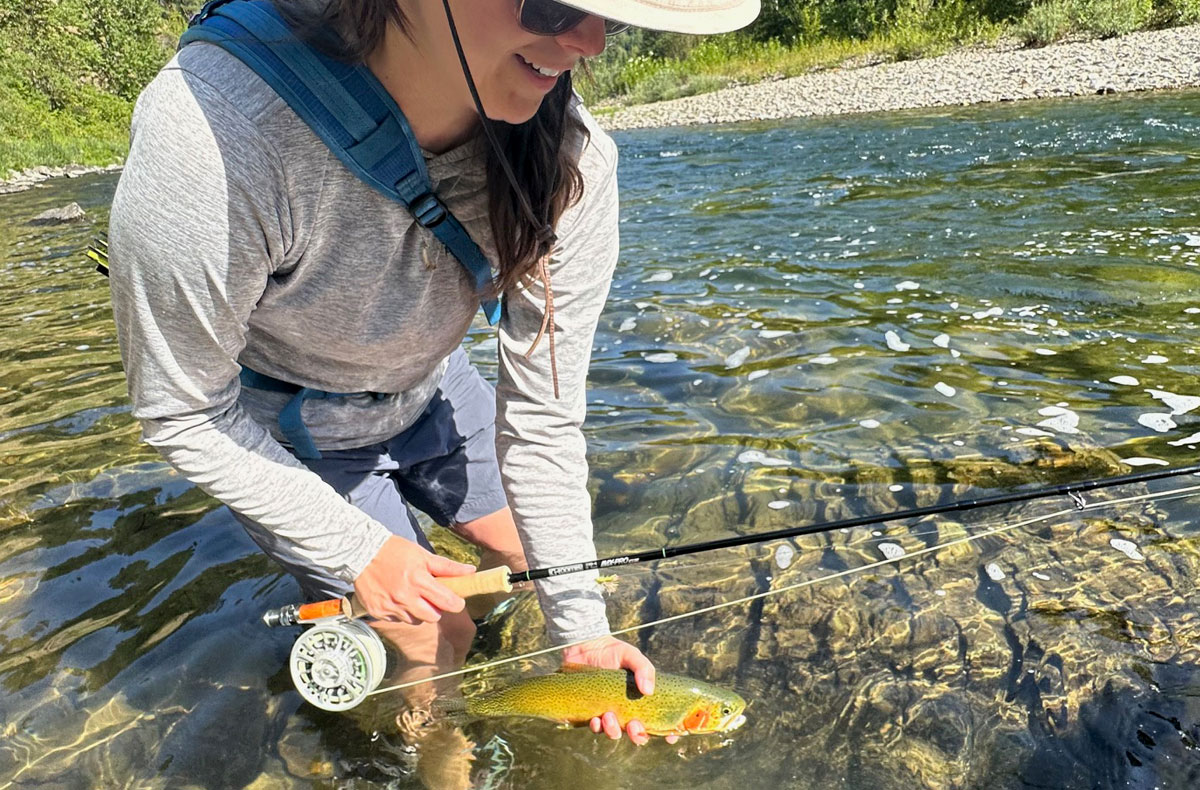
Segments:
[[[659,672],[654,694],[647,696],[631,672],[570,666],[466,700],[438,701],[443,711],[480,718],[524,716],[564,725],[587,724],[612,711],[622,729],[638,719],[650,735],[727,732],[745,722],[745,706],[733,692],[690,677]]]

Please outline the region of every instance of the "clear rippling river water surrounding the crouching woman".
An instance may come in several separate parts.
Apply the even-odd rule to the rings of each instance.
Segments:
[[[1193,462],[1198,134],[1194,92],[618,134],[601,555]],[[259,622],[295,585],[139,444],[83,259],[114,186],[0,197],[0,786],[1200,780],[1193,478],[619,575],[614,627],[790,587],[630,635],[750,700],[727,737],[476,722],[425,744],[438,773],[386,695],[302,704],[295,633]],[[486,328],[468,347],[491,375]],[[472,660],[539,634],[517,599]]]

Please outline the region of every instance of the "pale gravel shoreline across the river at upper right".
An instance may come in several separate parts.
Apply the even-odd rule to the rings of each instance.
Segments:
[[[1192,86],[1200,86],[1200,25],[835,68],[629,107],[599,120],[614,131]]]

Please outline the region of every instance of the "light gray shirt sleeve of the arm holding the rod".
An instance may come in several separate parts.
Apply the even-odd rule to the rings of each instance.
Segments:
[[[352,582],[389,537],[239,406],[238,355],[292,251],[286,176],[254,124],[168,66],[138,101],[109,225],[133,415],[200,489]]]

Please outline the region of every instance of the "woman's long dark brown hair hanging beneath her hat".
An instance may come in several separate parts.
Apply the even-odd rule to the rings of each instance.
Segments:
[[[350,62],[364,62],[383,43],[388,24],[402,31],[407,19],[403,0],[275,0],[296,35],[322,50]],[[580,199],[583,176],[578,152],[587,140],[587,130],[571,112],[574,91],[571,73],[541,102],[536,114],[523,124],[488,121],[496,131],[503,154],[488,148],[488,217],[499,268],[497,293],[529,282],[539,261],[550,252],[539,238],[541,225],[557,227],[563,211]],[[521,197],[505,178],[498,156],[508,157],[517,182],[533,209],[534,223],[521,209]]]

